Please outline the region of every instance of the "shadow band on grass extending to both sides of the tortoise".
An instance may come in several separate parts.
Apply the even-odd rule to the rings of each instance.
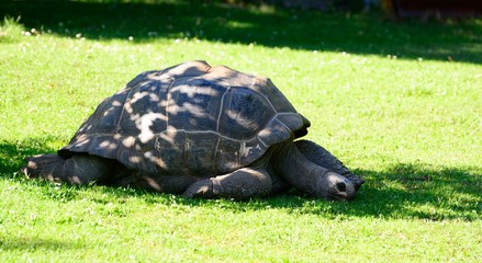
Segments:
[[[27,183],[18,173],[23,158],[43,152],[55,152],[48,141],[55,138],[29,139],[20,142],[1,141],[0,179]],[[269,198],[246,202],[186,199],[169,194],[148,193],[142,190],[93,186],[109,201],[93,199],[100,204],[137,197],[147,204],[182,206],[212,206],[236,213],[258,209],[283,209],[291,214],[313,214],[328,218],[372,217],[392,219],[459,219],[482,218],[482,168],[434,167],[427,163],[394,163],[383,171],[356,170],[366,179],[357,197],[349,202],[326,202],[304,197],[295,191]],[[61,202],[76,201],[89,186],[51,187],[49,182],[29,181],[46,198]]]

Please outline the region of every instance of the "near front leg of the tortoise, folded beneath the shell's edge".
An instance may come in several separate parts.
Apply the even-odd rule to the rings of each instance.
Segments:
[[[200,180],[191,184],[183,196],[246,199],[270,192],[271,179],[265,169],[243,168],[225,175]]]

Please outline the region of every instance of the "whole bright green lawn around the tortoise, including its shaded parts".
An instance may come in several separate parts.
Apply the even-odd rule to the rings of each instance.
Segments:
[[[0,262],[482,261],[482,21],[114,2],[0,3]],[[366,179],[357,198],[192,201],[18,172],[138,72],[192,59],[270,77]]]

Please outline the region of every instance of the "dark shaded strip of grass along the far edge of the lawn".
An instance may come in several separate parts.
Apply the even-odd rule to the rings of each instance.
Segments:
[[[239,8],[186,0],[154,2],[2,1],[0,18],[20,15],[27,30],[66,37],[80,33],[100,41],[127,41],[132,36],[134,43],[143,43],[195,37],[268,47],[482,62],[480,20],[396,23],[382,15]]]

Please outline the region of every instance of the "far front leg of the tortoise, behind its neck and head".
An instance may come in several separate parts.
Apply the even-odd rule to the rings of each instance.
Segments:
[[[356,191],[365,183],[360,176],[350,172],[340,160],[317,144],[311,140],[296,140],[294,145],[309,161],[348,179],[354,184]]]

